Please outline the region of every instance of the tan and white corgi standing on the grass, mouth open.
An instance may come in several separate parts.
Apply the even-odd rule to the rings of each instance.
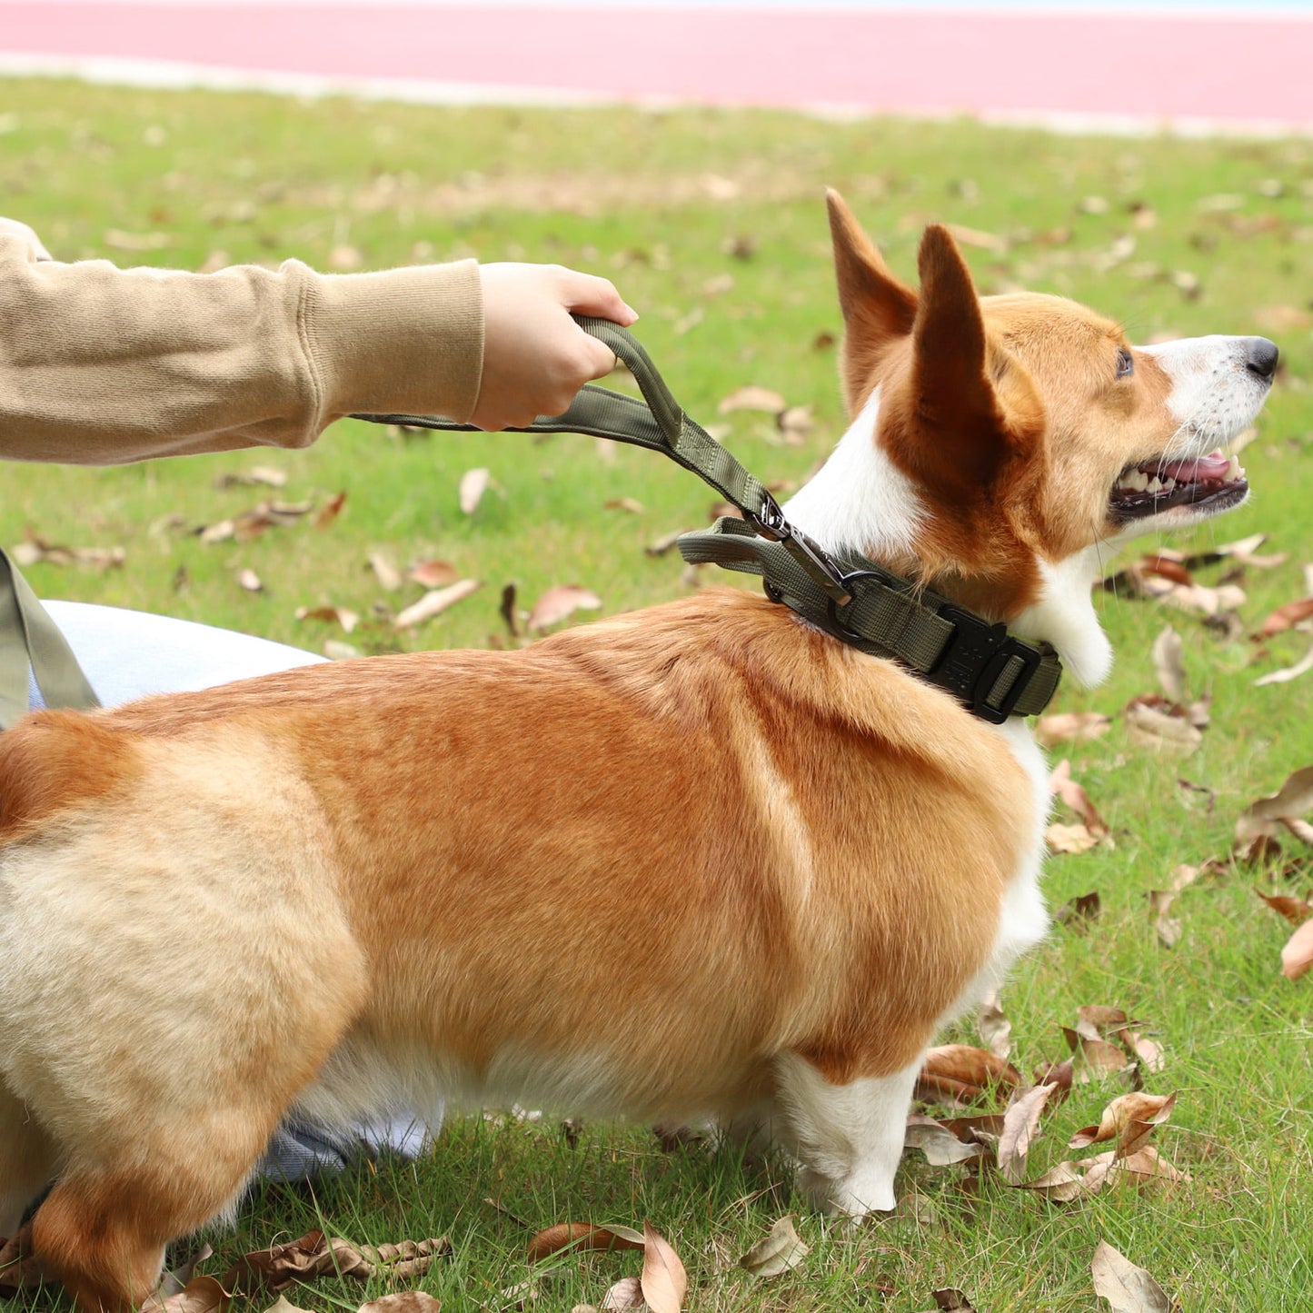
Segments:
[[[786,507],[1111,660],[1109,550],[1239,506],[1262,337],[1132,347],[1053,295],[919,286],[830,217],[851,427]],[[230,1208],[289,1112],[436,1098],[769,1125],[894,1204],[922,1056],[1045,932],[1045,765],[741,590],[520,651],[309,666],[0,735],[0,1233],[84,1313]]]

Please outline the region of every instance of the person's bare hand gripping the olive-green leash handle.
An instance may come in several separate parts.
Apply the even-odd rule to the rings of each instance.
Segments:
[[[605,280],[558,264],[483,264],[483,381],[470,423],[499,429],[559,415],[575,393],[614,368],[609,347],[586,334],[571,312],[637,318]]]

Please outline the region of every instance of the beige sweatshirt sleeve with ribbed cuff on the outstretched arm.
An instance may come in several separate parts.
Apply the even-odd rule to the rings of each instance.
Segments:
[[[306,446],[353,411],[467,419],[478,265],[198,274],[59,264],[0,221],[0,458],[114,465]]]

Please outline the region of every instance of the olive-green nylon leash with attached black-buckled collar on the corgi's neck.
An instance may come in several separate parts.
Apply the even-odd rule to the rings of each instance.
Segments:
[[[517,433],[588,433],[660,452],[697,474],[743,519],[723,516],[684,533],[680,555],[695,565],[759,575],[772,601],[826,633],[876,656],[893,656],[955,693],[981,718],[1036,716],[1053,697],[1062,663],[1048,643],[1029,643],[973,611],[919,588],[874,561],[831,555],[784,517],[769,488],[706,429],[684,414],[638,340],[608,319],[579,326],[628,366],[642,399],[587,383],[557,416],[512,428]],[[355,415],[374,424],[478,432],[441,415]]]

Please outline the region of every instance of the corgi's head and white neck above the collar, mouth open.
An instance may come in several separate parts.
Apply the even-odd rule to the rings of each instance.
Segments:
[[[1222,449],[1262,407],[1276,347],[1134,347],[1120,324],[1062,297],[978,297],[939,226],[926,230],[913,290],[835,193],[830,225],[853,427],[835,453],[842,478],[826,490],[818,477],[790,515],[797,507],[822,545],[876,555],[1067,647],[1077,678],[1102,678],[1107,645],[1092,638],[1088,607],[1096,558],[1246,499],[1243,470]],[[826,512],[825,496],[840,506]],[[1058,596],[1079,591],[1075,574],[1087,616]],[[1083,650],[1048,632],[1061,620],[1054,604],[1069,612],[1057,628],[1075,622]]]

